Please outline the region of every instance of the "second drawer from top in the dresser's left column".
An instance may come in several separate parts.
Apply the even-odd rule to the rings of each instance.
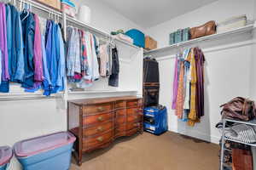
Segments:
[[[83,125],[84,126],[90,126],[102,122],[108,122],[110,120],[113,120],[113,112],[108,113],[102,113],[92,116],[84,116],[83,117]]]

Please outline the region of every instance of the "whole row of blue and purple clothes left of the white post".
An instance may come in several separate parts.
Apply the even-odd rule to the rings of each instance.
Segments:
[[[61,25],[0,3],[0,92],[18,82],[26,92],[55,94],[65,87],[65,46]]]

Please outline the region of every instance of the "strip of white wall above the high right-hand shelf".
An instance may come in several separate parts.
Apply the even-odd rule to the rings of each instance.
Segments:
[[[253,1],[219,0],[158,26],[150,27],[146,29],[146,33],[157,40],[159,47],[165,47],[169,43],[169,34],[180,28],[201,26],[209,20],[219,22],[241,14],[247,14],[248,20],[253,20]]]

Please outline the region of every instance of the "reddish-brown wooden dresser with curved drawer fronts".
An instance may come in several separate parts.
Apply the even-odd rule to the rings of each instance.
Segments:
[[[121,136],[143,133],[143,99],[124,96],[69,100],[67,125],[76,137],[79,165],[82,154],[107,147]]]

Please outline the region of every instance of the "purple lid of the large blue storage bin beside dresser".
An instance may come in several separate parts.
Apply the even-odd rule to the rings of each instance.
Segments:
[[[61,132],[22,140],[15,144],[15,155],[20,157],[34,156],[48,150],[71,144],[76,140],[72,133]]]

